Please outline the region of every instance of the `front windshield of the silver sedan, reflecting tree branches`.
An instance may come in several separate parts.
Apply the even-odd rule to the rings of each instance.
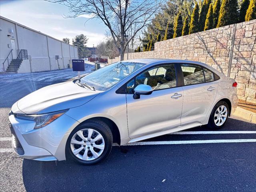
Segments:
[[[116,62],[84,76],[80,83],[106,91],[143,65],[137,62]]]

